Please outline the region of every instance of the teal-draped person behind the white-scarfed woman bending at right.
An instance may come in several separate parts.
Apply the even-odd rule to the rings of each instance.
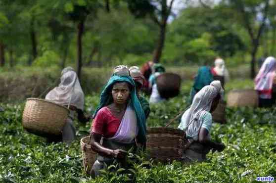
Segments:
[[[194,95],[199,92],[203,87],[210,85],[213,80],[214,79],[211,68],[208,66],[200,67],[197,71],[197,75],[194,79],[194,84],[190,91],[190,103],[192,103]]]

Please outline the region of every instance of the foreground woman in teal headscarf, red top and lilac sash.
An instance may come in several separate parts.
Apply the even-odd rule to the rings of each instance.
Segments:
[[[145,147],[145,114],[136,94],[135,82],[126,66],[118,66],[100,94],[94,113],[90,144],[98,153],[91,174],[112,163],[123,162],[128,150]]]

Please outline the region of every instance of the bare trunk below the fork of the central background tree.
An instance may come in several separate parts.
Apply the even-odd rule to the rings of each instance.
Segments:
[[[161,24],[159,28],[160,28],[159,39],[157,42],[157,46],[154,50],[153,59],[152,59],[154,63],[159,63],[160,58],[162,56],[162,51],[163,51],[165,36],[166,36],[166,23]]]

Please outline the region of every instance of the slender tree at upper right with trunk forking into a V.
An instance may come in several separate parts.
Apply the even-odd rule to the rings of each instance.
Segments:
[[[251,73],[250,77],[255,77],[255,63],[258,47],[260,46],[260,39],[264,28],[266,26],[266,20],[268,17],[270,3],[269,0],[230,0],[230,5],[237,12],[237,20],[247,30],[251,39]],[[257,20],[258,15],[262,17]],[[259,24],[259,25],[256,25]]]

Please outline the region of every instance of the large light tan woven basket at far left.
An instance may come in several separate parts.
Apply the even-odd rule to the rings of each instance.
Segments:
[[[49,137],[59,136],[66,123],[69,110],[66,107],[38,98],[27,98],[22,125],[28,132]]]

